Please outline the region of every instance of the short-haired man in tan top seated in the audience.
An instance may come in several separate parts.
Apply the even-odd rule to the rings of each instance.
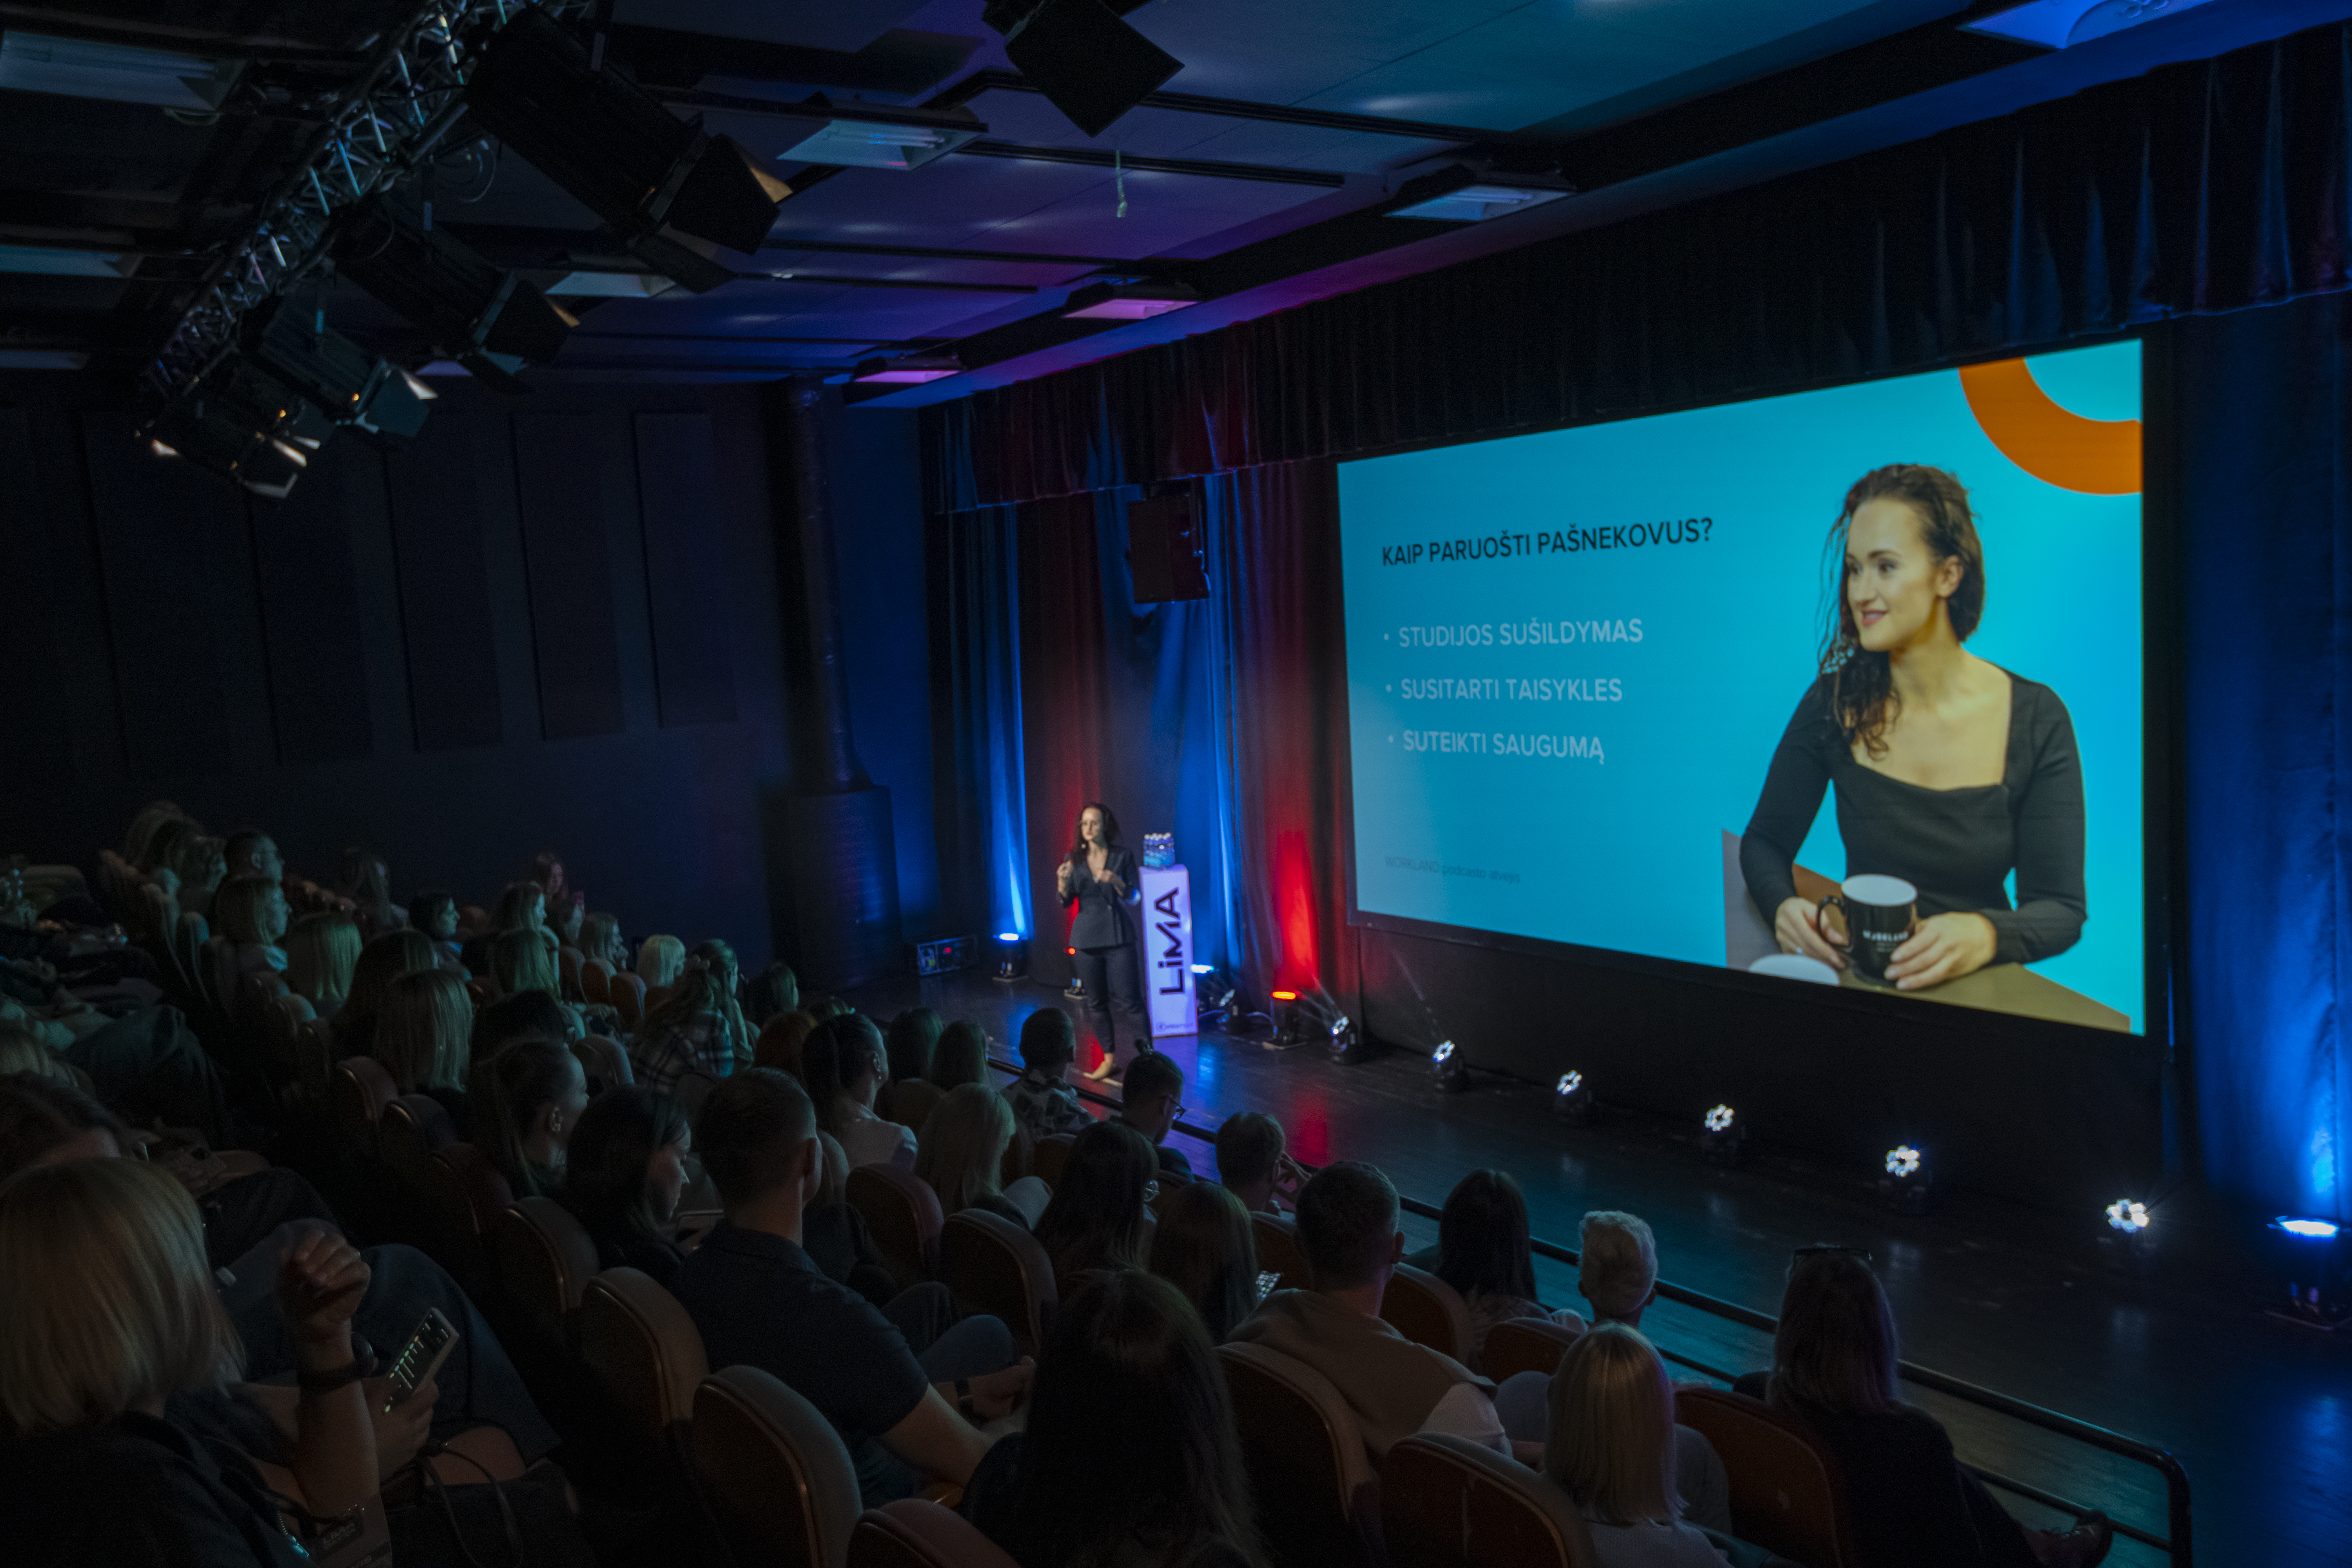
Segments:
[[[1451,1432],[1510,1453],[1494,1385],[1381,1319],[1388,1279],[1404,1260],[1397,1190],[1374,1166],[1343,1161],[1298,1190],[1305,1291],[1275,1291],[1232,1340],[1305,1361],[1338,1389],[1364,1432],[1374,1467],[1414,1432]]]

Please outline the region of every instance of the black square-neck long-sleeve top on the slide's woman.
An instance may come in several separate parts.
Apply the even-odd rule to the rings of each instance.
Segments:
[[[1830,705],[1830,677],[1797,703],[1740,842],[1740,875],[1764,912],[1797,896],[1797,849],[1837,785],[1846,875],[1903,877],[1919,914],[1969,910],[1992,922],[1997,964],[2032,964],[2082,938],[2082,757],[2074,722],[2049,686],[2009,677],[2009,757],[2002,783],[1929,790],[1853,759]],[[2009,905],[2009,872],[2018,903]]]

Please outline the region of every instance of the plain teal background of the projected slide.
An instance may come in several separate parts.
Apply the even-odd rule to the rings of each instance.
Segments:
[[[2140,416],[2138,343],[2030,364],[2074,414]],[[1933,463],[1969,487],[1987,585],[1969,649],[2049,684],[2074,719],[2089,922],[2034,969],[2145,1032],[2140,496],[2020,470],[1957,371],[1341,463],[1357,905],[1722,964],[1722,835],[1745,830],[1813,679],[1837,505],[1884,463]],[[1696,545],[1428,559],[1430,541],[1691,517],[1712,520]],[[1383,564],[1383,548],[1414,543],[1421,562]],[[1642,639],[1503,644],[1531,621],[1639,621]],[[1463,625],[1496,642],[1406,646],[1406,628]],[[1406,696],[1449,677],[1616,679],[1623,701]],[[1482,733],[1489,750],[1406,750],[1423,731]],[[1496,755],[1496,733],[1583,736],[1602,759]],[[1799,860],[1846,875],[1835,797]],[[1472,867],[1501,877],[1461,875]]]

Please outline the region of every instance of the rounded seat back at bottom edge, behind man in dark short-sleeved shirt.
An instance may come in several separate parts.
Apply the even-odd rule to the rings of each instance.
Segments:
[[[694,1479],[736,1563],[840,1568],[858,1472],[816,1406],[757,1366],[694,1389]]]

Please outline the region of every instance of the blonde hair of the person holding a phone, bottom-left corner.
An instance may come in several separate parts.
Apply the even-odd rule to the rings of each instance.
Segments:
[[[0,1185],[0,1429],[111,1420],[240,1359],[195,1199],[162,1166],[75,1159]]]

